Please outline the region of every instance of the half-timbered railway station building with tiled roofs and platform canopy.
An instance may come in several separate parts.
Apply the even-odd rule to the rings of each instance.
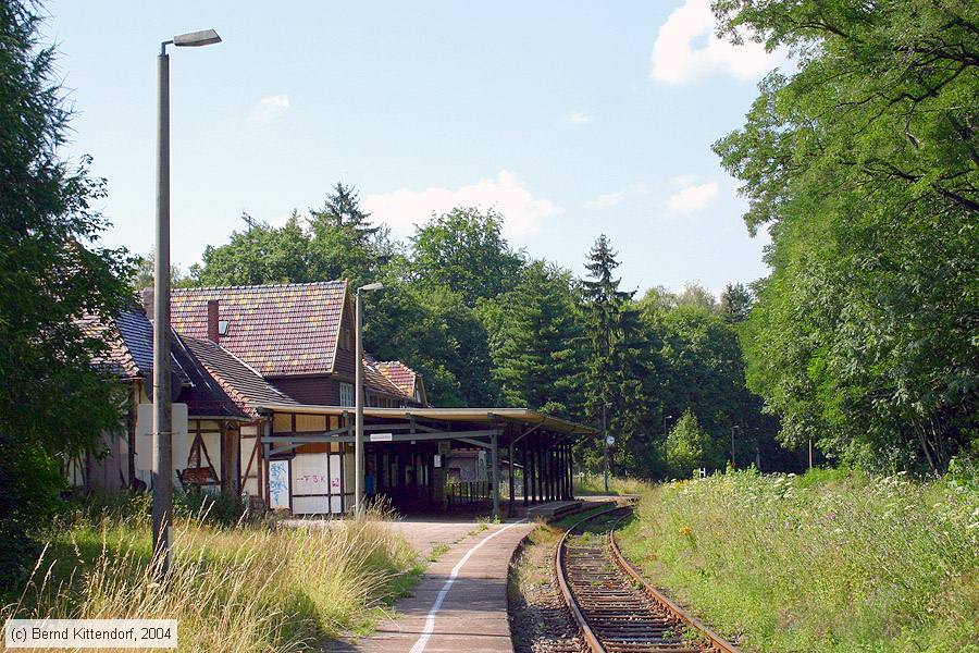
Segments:
[[[129,411],[79,485],[146,486],[152,456],[152,297],[103,328]],[[171,304],[174,482],[293,515],[354,505],[355,333],[345,281],[178,288]],[[572,445],[595,432],[524,408],[437,408],[400,361],[364,356],[368,501],[400,512],[571,498]],[[184,408],[185,407],[185,408]],[[182,420],[179,410],[186,410]]]

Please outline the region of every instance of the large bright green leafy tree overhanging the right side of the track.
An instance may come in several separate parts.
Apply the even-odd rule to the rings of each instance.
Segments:
[[[748,382],[875,469],[976,448],[979,86],[969,2],[722,0],[721,29],[796,58],[715,145],[772,269],[744,330]]]

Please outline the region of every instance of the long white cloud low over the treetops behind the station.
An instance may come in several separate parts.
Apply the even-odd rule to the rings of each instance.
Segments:
[[[563,209],[549,199],[535,198],[517,175],[508,170],[500,170],[495,177],[482,178],[475,184],[455,189],[401,188],[363,198],[363,208],[399,236],[410,234],[414,224],[424,223],[433,212],[445,213],[456,207],[496,209],[505,218],[503,230],[507,236],[534,233],[540,230],[544,218],[563,212]]]

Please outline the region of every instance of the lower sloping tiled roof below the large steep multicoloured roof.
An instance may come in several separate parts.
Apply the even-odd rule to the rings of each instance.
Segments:
[[[256,406],[297,404],[295,399],[273,387],[258,372],[216,343],[188,336],[183,340],[238,408],[250,417],[259,417]]]

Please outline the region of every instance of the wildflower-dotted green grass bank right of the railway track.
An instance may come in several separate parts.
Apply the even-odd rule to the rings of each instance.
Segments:
[[[816,470],[646,492],[619,534],[746,651],[979,651],[979,489]]]

